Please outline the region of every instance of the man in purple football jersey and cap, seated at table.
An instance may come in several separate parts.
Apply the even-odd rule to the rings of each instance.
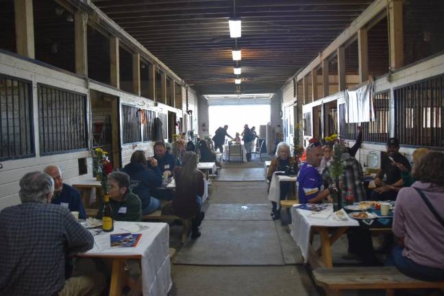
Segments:
[[[306,149],[306,162],[301,165],[297,175],[298,195],[301,204],[319,204],[327,198],[334,189],[321,191],[322,177],[317,170],[322,160],[322,149],[320,143],[312,143]]]

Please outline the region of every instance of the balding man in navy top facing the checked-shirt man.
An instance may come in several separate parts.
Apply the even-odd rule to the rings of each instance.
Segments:
[[[45,173],[54,180],[54,195],[51,199],[52,204],[60,204],[69,210],[79,212],[79,219],[86,219],[86,213],[80,193],[72,186],[63,183],[62,172],[57,166],[50,165],[45,168]]]

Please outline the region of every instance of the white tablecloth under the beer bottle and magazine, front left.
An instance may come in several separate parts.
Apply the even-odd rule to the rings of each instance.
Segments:
[[[147,230],[134,231],[138,225],[148,226]],[[171,265],[169,260],[169,225],[167,223],[121,222],[114,223],[112,234],[141,233],[136,247],[109,246],[110,233],[101,232],[94,236],[93,249],[86,252],[91,256],[141,255],[142,291],[144,296],[167,295],[171,285]],[[104,245],[108,241],[108,245]]]

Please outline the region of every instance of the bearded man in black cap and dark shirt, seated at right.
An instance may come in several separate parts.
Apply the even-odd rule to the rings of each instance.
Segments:
[[[393,188],[402,187],[401,171],[397,167],[397,163],[404,165],[410,171],[410,162],[407,158],[399,153],[399,140],[397,138],[389,138],[387,142],[387,153],[382,156],[381,169],[375,177],[376,189],[371,193],[371,200],[395,200],[397,197],[397,190]],[[385,181],[382,181],[384,176]]]

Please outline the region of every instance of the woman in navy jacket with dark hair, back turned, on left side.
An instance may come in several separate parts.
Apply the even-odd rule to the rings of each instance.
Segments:
[[[131,177],[132,191],[142,201],[142,213],[151,214],[160,209],[160,201],[151,197],[150,192],[162,185],[162,173],[160,173],[156,158],[150,158],[151,169],[147,168],[147,158],[144,151],[134,151],[130,163],[125,165],[123,171]]]

